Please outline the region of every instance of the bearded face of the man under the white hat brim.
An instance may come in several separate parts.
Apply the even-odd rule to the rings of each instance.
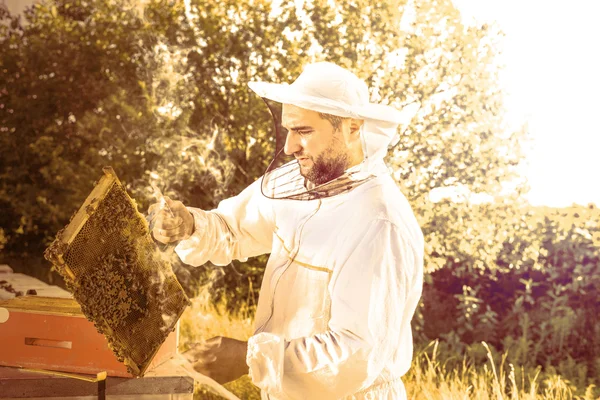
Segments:
[[[347,121],[336,130],[318,112],[284,104],[282,125],[288,130],[285,154],[296,157],[302,176],[315,185],[339,177],[349,167],[349,148],[344,139],[349,130]]]

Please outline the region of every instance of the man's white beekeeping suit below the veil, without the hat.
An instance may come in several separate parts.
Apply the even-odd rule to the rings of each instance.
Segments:
[[[176,247],[183,262],[271,253],[247,353],[263,399],[406,398],[423,235],[377,164],[373,178],[332,197],[269,199],[259,179],[216,210],[190,208],[194,234]]]

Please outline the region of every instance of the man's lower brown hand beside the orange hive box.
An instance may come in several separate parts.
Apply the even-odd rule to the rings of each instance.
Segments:
[[[195,345],[184,356],[196,371],[223,384],[248,373],[247,351],[248,342],[217,336]]]

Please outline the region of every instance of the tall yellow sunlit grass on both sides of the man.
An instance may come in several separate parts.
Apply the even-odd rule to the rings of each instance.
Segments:
[[[231,314],[225,302],[213,304],[204,291],[192,300],[181,318],[180,348],[213,336],[247,340],[253,332],[252,311]],[[487,363],[475,365],[467,356],[441,350],[438,341],[416,351],[404,384],[409,399],[415,400],[600,400],[594,385],[576,388],[555,373],[541,368],[526,371],[506,363],[506,355],[494,355],[483,342]],[[225,385],[242,400],[258,400],[260,392],[247,376]],[[581,393],[581,394],[577,394]],[[195,399],[218,400],[206,388],[196,389]],[[316,399],[318,400],[318,399]]]

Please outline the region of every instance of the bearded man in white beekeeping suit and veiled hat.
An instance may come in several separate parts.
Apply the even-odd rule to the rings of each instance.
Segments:
[[[424,245],[383,158],[414,111],[370,103],[367,85],[330,63],[250,88],[282,105],[271,111],[283,152],[215,210],[169,199],[174,217],[153,229],[194,266],[271,253],[254,335],[208,340],[195,368],[219,382],[249,373],[263,399],[405,399]]]

